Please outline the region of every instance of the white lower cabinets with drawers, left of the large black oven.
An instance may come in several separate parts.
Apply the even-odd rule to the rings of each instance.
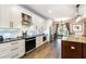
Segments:
[[[0,44],[0,59],[17,59],[25,53],[25,40],[17,40]]]

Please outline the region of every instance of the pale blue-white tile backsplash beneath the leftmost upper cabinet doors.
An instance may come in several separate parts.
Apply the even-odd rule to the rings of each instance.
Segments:
[[[3,38],[15,38],[17,37],[20,33],[20,29],[17,28],[0,28],[0,35],[3,36]]]

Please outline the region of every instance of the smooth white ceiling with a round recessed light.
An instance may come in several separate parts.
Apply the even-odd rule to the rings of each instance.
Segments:
[[[30,8],[30,10],[46,18],[71,18],[76,16],[76,4],[25,4],[25,8]],[[79,14],[84,14],[85,9],[81,5]]]

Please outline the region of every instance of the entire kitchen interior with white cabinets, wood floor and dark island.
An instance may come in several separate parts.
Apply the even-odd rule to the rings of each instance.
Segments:
[[[85,4],[0,4],[0,59],[85,59]]]

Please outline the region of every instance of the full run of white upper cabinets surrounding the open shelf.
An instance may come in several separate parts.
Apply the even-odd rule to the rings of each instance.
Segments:
[[[22,28],[22,13],[33,18],[34,25],[38,28],[44,26],[44,18],[29,12],[28,10],[15,4],[0,5],[0,27],[3,28]],[[28,26],[29,27],[29,26]]]

